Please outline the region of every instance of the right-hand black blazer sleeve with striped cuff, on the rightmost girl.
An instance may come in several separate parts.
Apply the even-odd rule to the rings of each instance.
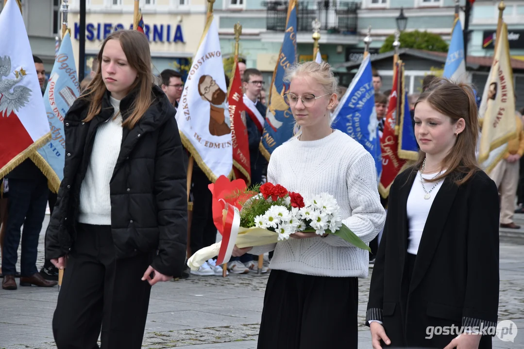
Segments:
[[[467,231],[464,326],[497,327],[499,294],[499,204],[495,182],[479,172],[473,179]]]

